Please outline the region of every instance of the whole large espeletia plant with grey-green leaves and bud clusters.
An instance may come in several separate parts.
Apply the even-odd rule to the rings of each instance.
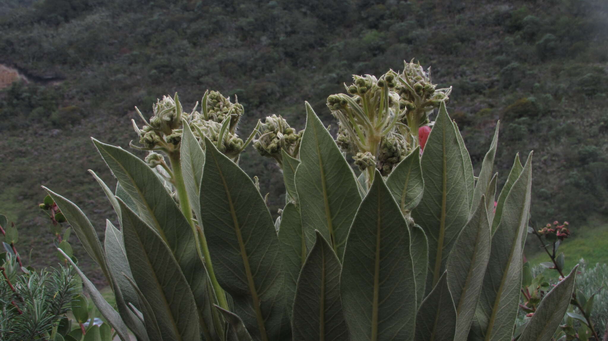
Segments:
[[[200,111],[175,95],[142,114],[145,160],[93,139],[117,179],[95,176],[120,221],[103,241],[47,189],[114,291],[116,310],[80,272],[122,340],[550,340],[573,273],[514,335],[531,154],[499,191],[497,125],[474,176],[451,88],[420,64],[345,92],[327,100],[337,142],[308,103],[303,131],[271,115],[241,139],[243,106],[215,91]],[[238,166],[249,144],[282,169],[275,221]]]

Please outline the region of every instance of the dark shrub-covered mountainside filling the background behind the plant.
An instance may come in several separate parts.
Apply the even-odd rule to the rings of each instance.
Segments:
[[[608,213],[603,0],[4,0],[0,29],[0,63],[29,80],[0,91],[0,212],[40,264],[55,263],[43,256],[53,246],[40,185],[80,205],[100,233],[105,218],[116,221],[86,171],[114,183],[89,137],[130,149],[134,106],[150,116],[156,98],[175,92],[185,111],[206,89],[238,96],[246,137],[272,114],[303,129],[307,100],[335,131],[328,95],[353,74],[412,58],[454,87],[447,109],[476,172],[497,120],[499,185],[515,154],[534,150],[533,224]],[[263,194],[280,183],[251,147],[241,165]],[[284,200],[270,193],[271,211]]]

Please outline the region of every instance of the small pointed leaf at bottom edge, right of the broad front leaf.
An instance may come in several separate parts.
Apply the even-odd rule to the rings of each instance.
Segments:
[[[456,308],[447,285],[446,272],[424,298],[416,314],[414,341],[452,341],[456,331]]]

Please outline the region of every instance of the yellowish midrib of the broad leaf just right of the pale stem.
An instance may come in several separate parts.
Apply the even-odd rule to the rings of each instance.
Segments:
[[[258,322],[258,328],[260,328],[260,335],[263,341],[268,341],[268,335],[266,334],[266,326],[264,325],[264,318],[260,309],[260,298],[258,298],[258,292],[255,288],[254,283],[254,277],[251,273],[251,267],[249,265],[249,256],[247,255],[247,250],[245,249],[245,244],[243,243],[243,235],[241,235],[241,228],[240,224],[238,223],[237,211],[234,208],[232,196],[230,196],[230,191],[228,189],[228,184],[226,183],[224,173],[222,173],[221,168],[219,168],[218,159],[214,153],[210,154],[213,157],[213,162],[215,162],[215,167],[218,170],[219,178],[222,180],[222,185],[224,186],[224,191],[226,192],[226,199],[230,208],[230,216],[232,217],[233,227],[235,230],[235,234],[237,235],[241,258],[243,259],[243,265],[245,267],[245,275],[247,276],[247,286],[249,287],[249,292],[251,293],[252,303],[255,309],[255,317]]]

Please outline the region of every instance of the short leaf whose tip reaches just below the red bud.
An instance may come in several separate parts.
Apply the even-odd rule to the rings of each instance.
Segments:
[[[417,146],[399,165],[390,173],[386,181],[390,193],[403,214],[409,213],[418,205],[424,191],[422,169],[420,168],[420,146]]]

